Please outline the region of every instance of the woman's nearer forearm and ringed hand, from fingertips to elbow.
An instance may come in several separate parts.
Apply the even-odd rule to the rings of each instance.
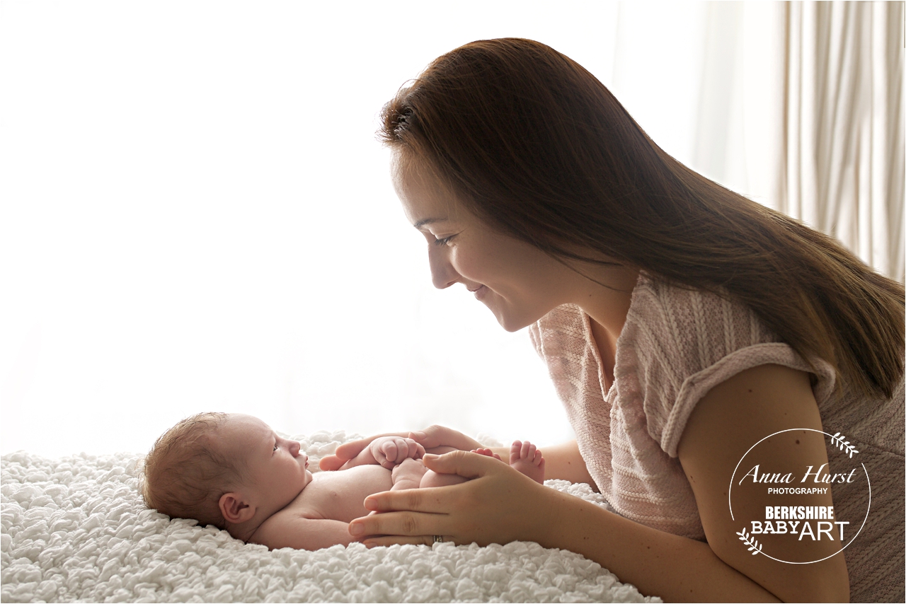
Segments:
[[[441,474],[474,478],[455,486],[371,495],[365,507],[384,513],[352,521],[368,546],[427,543],[443,535],[457,543],[534,541],[583,554],[667,601],[777,601],[720,561],[707,543],[633,523],[578,497],[537,484],[506,465],[463,451],[425,457]],[[414,512],[399,512],[412,510]],[[424,535],[422,537],[421,535]]]

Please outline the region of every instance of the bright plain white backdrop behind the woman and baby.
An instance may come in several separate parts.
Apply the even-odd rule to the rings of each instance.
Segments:
[[[439,54],[527,37],[695,168],[704,11],[0,3],[2,452],[145,451],[204,410],[570,438],[526,331],[431,287],[377,115]]]

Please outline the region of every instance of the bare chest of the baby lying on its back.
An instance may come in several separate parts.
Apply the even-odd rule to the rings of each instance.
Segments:
[[[336,472],[315,472],[296,498],[277,512],[312,520],[339,520],[351,523],[368,515],[365,497],[390,491],[390,470],[381,465],[357,465]]]

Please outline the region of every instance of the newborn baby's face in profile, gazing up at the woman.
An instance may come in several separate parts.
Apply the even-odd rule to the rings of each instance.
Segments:
[[[250,484],[243,487],[268,513],[283,509],[312,480],[299,443],[277,436],[257,417],[230,415],[218,438],[224,454],[245,465]]]

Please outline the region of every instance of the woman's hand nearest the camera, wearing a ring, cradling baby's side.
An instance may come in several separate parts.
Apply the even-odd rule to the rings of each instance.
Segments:
[[[556,517],[559,493],[538,484],[493,457],[466,451],[425,455],[438,474],[457,474],[466,483],[436,488],[387,491],[368,496],[374,513],[350,523],[350,533],[369,547],[424,543],[440,535],[445,542],[508,543],[545,540]]]

